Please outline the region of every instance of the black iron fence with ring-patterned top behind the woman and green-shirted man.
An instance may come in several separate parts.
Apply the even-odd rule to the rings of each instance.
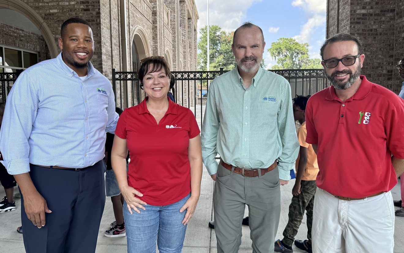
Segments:
[[[270,70],[285,77],[290,83],[292,97],[295,95],[314,94],[326,88],[326,75],[324,69],[276,69]],[[176,85],[175,101],[190,108],[202,123],[204,104],[209,91],[209,81],[226,73],[221,68],[219,71],[173,71]],[[116,105],[126,108],[137,105],[144,98],[145,93],[139,88],[139,79],[136,72],[117,72],[112,70],[112,86],[116,95]],[[119,89],[117,89],[119,87]],[[124,92],[121,92],[124,91]]]

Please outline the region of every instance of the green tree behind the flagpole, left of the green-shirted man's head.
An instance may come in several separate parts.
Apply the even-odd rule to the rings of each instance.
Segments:
[[[200,29],[200,40],[198,42],[198,70],[206,71],[207,54],[208,54],[208,29],[205,25]],[[209,26],[209,64],[210,70],[234,69],[236,61],[234,60],[233,52],[231,51],[231,43],[233,33],[226,33],[219,25]]]

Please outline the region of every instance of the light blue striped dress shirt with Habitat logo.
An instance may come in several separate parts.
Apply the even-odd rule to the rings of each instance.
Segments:
[[[91,63],[82,80],[59,54],[23,71],[13,85],[0,130],[2,163],[12,175],[29,172],[29,163],[94,165],[118,117],[111,82]]]

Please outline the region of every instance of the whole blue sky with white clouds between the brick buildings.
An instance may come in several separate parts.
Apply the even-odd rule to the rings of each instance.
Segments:
[[[195,0],[198,29],[207,24],[207,0]],[[267,68],[276,64],[267,49],[278,38],[309,44],[310,58],[320,58],[326,34],[326,0],[209,0],[209,24],[234,31],[251,21],[263,29]]]

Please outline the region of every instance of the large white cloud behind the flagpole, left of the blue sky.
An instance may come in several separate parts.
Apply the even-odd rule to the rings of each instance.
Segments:
[[[234,31],[241,25],[250,6],[262,0],[209,1],[209,25],[220,25],[224,31]],[[195,0],[198,10],[198,30],[208,24],[207,0]],[[199,33],[198,33],[199,38]]]

